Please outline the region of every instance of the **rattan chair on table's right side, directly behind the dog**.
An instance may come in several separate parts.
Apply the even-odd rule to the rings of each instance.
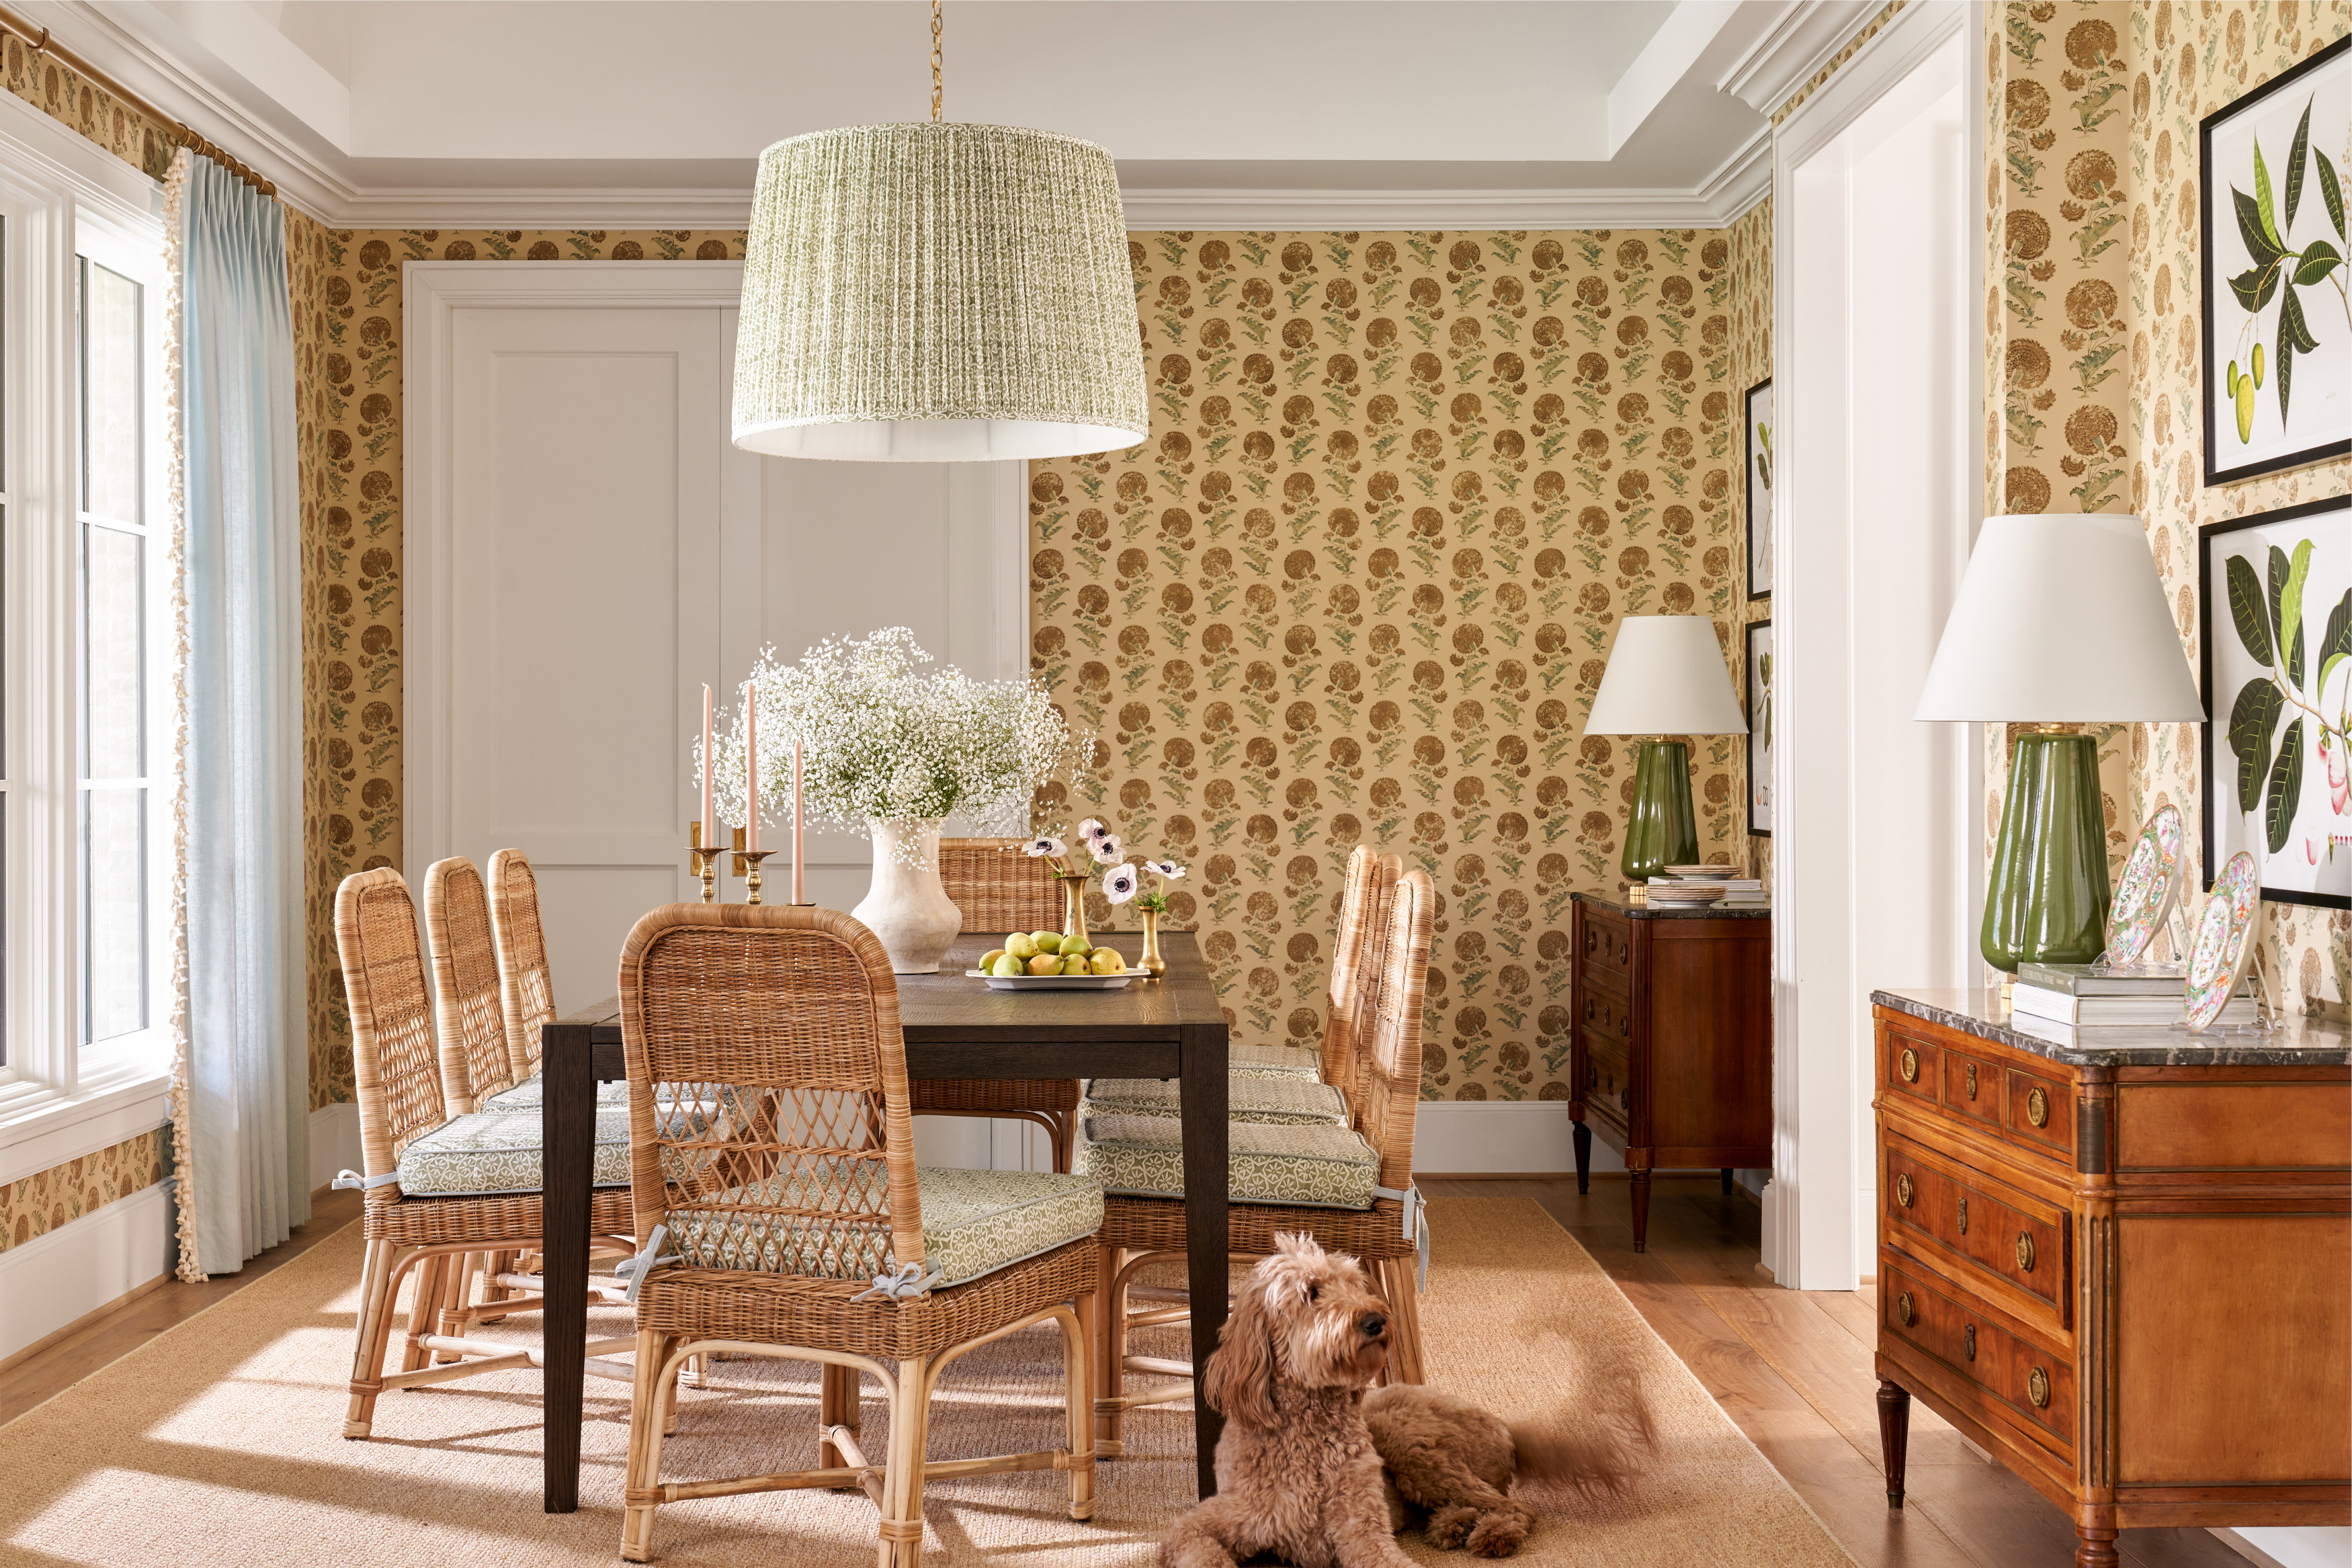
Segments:
[[[1374,924],[1357,983],[1355,1124],[1230,1128],[1230,1251],[1261,1258],[1275,1234],[1303,1232],[1362,1258],[1397,1319],[1388,1378],[1421,1382],[1416,1265],[1423,1246],[1414,1190],[1414,1107],[1421,1100],[1421,1001],[1430,971],[1435,886],[1423,870],[1397,877]],[[1183,1150],[1174,1124],[1148,1117],[1087,1117],[1077,1168],[1103,1182],[1098,1234],[1101,1342],[1096,1356],[1096,1453],[1124,1450],[1127,1410],[1192,1396],[1185,1361],[1134,1356],[1127,1335],[1188,1316],[1188,1307],[1127,1312],[1141,1269],[1185,1255]],[[1183,1382],[1127,1392],[1127,1373],[1171,1373]]]

